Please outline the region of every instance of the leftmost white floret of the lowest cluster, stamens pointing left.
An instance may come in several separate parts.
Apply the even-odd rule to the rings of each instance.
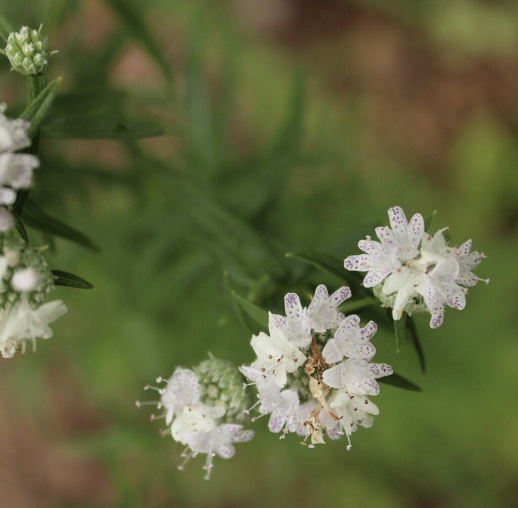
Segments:
[[[161,378],[157,380],[160,383]],[[178,368],[167,381],[167,386],[161,390],[161,405],[166,409],[166,424],[172,422],[172,417],[177,414],[184,405],[192,405],[198,402],[201,387],[198,384],[196,374],[189,369]]]

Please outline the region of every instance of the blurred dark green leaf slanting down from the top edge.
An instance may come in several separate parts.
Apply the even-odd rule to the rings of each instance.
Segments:
[[[153,32],[149,29],[143,16],[142,9],[137,8],[137,4],[127,0],[106,0],[106,3],[117,13],[122,22],[130,30],[134,39],[140,39],[143,47],[152,56],[153,60],[162,70],[164,76],[171,79],[170,62],[167,61],[159,42]]]

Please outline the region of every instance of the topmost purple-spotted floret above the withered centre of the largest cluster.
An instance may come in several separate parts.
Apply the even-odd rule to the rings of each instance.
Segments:
[[[318,333],[324,333],[330,328],[339,326],[345,316],[337,310],[337,307],[350,296],[351,290],[346,286],[340,287],[331,296],[324,284],[318,286],[309,307],[303,310],[309,326]]]

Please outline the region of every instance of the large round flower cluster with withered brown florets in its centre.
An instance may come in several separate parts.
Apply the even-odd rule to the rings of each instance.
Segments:
[[[357,315],[344,316],[338,306],[351,296],[341,287],[329,296],[320,285],[309,307],[299,297],[285,296],[286,315],[269,314],[269,335],[252,337],[257,359],[241,373],[257,388],[260,416],[270,415],[268,428],[311,438],[310,447],[330,439],[350,436],[358,425],[370,427],[379,410],[367,396],[378,395],[377,378],[392,374],[385,364],[371,364],[376,353],[369,342],[376,323],[363,327]]]

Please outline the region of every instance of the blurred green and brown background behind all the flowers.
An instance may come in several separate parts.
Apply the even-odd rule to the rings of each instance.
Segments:
[[[53,109],[163,125],[145,140],[40,143],[33,195],[100,253],[49,243],[69,312],[38,354],[2,361],[0,485],[11,507],[517,506],[518,6],[467,0],[46,0],[10,3],[50,38]],[[16,114],[24,78],[0,61]],[[57,119],[57,120],[55,120]],[[85,119],[85,121],[88,119]],[[66,129],[65,129],[66,130]],[[46,134],[46,137],[45,137]],[[69,134],[69,133],[68,133]],[[138,410],[142,387],[207,357],[253,360],[225,288],[272,311],[341,281],[292,251],[343,259],[386,224],[435,228],[487,254],[491,284],[428,328],[427,373],[390,329],[375,360],[423,387],[382,385],[353,448],[279,441],[265,422],[234,458],[178,471],[182,446]],[[307,303],[307,300],[306,300]],[[363,321],[374,310],[360,312]]]

